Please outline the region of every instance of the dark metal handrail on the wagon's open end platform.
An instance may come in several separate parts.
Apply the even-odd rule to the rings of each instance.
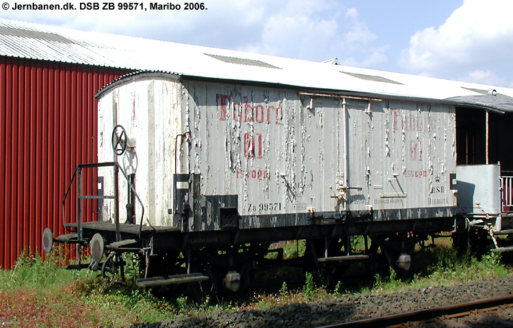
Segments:
[[[72,232],[72,230],[70,230],[68,227],[66,227],[65,206],[66,206],[66,198],[68,197],[68,193],[71,189],[71,185],[73,184],[73,181],[75,180],[75,177],[77,176],[77,172],[81,172],[82,169],[89,169],[89,168],[94,168],[94,167],[96,167],[96,168],[97,167],[114,167],[115,171],[116,171],[116,169],[119,169],[121,171],[124,178],[129,183],[129,187],[130,187],[131,191],[133,191],[133,194],[135,195],[135,197],[137,198],[137,201],[139,202],[139,204],[141,206],[141,221],[140,221],[140,226],[139,226],[139,236],[141,236],[142,221],[144,219],[144,205],[142,204],[142,200],[140,199],[139,195],[135,191],[135,187],[133,187],[133,184],[130,182],[129,177],[124,172],[124,170],[122,169],[122,167],[119,165],[118,162],[90,163],[90,164],[77,165],[77,167],[75,168],[75,172],[73,172],[73,176],[71,177],[70,183],[68,184],[68,188],[66,189],[66,193],[64,193],[64,199],[62,200],[62,224],[64,226],[64,229],[66,229],[68,232]],[[114,201],[116,202],[116,206],[117,206],[117,204],[119,204],[119,193],[118,193],[118,184],[117,183],[115,183],[115,185],[114,185],[114,196],[103,195],[103,196],[96,196],[95,198],[97,198],[97,199],[113,199],[113,197],[114,197]],[[79,210],[81,210],[81,208],[79,208]],[[79,224],[79,226],[81,226],[81,222],[78,222],[79,219],[81,221],[81,215],[79,215],[79,218],[77,219],[77,223]],[[119,211],[118,210],[116,210],[116,218],[115,219],[116,219],[116,236],[119,236],[120,231],[119,231]],[[77,228],[77,230],[79,230],[79,227]]]

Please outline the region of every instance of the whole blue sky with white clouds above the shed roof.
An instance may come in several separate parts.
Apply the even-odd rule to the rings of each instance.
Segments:
[[[7,0],[66,3],[60,0]],[[3,18],[513,87],[511,0],[205,0],[207,10],[0,10]],[[75,2],[78,7],[79,2]]]

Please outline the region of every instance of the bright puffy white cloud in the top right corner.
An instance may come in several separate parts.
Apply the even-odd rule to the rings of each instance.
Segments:
[[[501,81],[493,71],[495,65],[511,60],[512,12],[510,0],[465,0],[440,27],[415,32],[399,65],[411,72],[453,74],[453,78],[467,72],[464,79],[476,82],[485,79],[475,72],[489,72],[490,81]]]

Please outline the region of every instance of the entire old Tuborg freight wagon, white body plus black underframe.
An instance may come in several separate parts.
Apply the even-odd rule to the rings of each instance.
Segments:
[[[133,252],[140,286],[208,279],[238,290],[282,260],[269,249],[277,241],[306,240],[303,266],[372,267],[380,247],[408,269],[418,242],[453,230],[450,102],[162,72],[131,74],[97,98],[100,164],[77,167],[77,179],[98,167],[98,195],[79,197],[97,200],[99,218],[65,219],[70,234],[56,238],[91,247],[92,269],[114,272]]]

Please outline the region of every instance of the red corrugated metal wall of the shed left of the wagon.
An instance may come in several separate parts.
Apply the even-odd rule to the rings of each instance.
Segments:
[[[62,197],[79,163],[96,161],[94,94],[128,70],[0,57],[0,267],[64,233]],[[96,184],[84,180],[91,194]],[[76,193],[75,193],[76,195]],[[76,197],[76,196],[75,196]],[[76,200],[66,208],[75,217]],[[92,202],[84,204],[92,213]],[[91,219],[91,217],[88,217]]]

